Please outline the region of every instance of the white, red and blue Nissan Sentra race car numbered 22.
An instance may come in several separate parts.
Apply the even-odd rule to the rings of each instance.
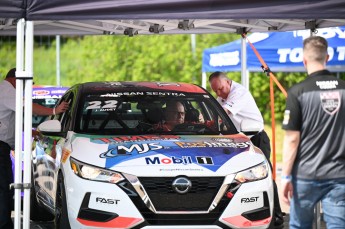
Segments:
[[[69,110],[38,127],[33,219],[54,216],[64,229],[270,225],[269,164],[201,87],[84,83],[61,101]],[[167,104],[177,101],[184,122],[160,128]],[[255,123],[242,128],[255,131]]]

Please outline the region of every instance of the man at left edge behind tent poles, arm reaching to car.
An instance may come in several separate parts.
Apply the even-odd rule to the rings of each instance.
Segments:
[[[5,80],[0,83],[0,229],[11,229],[13,223],[11,210],[13,191],[9,185],[13,182],[10,151],[14,149],[15,110],[16,110],[16,69],[11,69]],[[55,115],[65,112],[68,103],[62,102],[56,108],[48,108],[39,104],[32,105],[37,115]]]

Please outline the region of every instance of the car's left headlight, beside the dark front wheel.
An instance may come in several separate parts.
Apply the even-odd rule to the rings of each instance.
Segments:
[[[70,158],[70,162],[74,174],[84,179],[114,184],[125,179],[120,173],[87,165],[72,157]]]

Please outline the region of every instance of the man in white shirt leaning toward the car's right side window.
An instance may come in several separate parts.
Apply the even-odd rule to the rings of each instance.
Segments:
[[[223,72],[214,72],[209,77],[212,90],[217,94],[217,101],[229,115],[231,121],[240,132],[241,122],[252,119],[260,122],[261,131],[250,140],[259,147],[270,163],[270,139],[264,130],[264,120],[252,94],[241,84],[230,80]],[[271,164],[270,164],[271,165]],[[271,165],[272,168],[272,165]],[[280,228],[284,223],[279,204],[276,183],[274,183],[275,226]]]

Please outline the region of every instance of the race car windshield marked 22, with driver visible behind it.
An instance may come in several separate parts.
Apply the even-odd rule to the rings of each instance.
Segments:
[[[207,94],[144,96],[86,95],[75,131],[85,134],[235,134],[222,108]]]

